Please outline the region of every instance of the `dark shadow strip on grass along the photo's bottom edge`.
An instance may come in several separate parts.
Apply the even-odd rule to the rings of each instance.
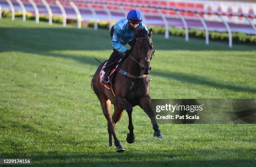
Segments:
[[[197,166],[197,167],[255,167],[256,160],[250,156],[255,149],[206,149],[195,150],[166,150],[164,152],[141,153],[133,152],[116,153],[115,151],[100,151],[88,154],[70,154],[69,152],[50,151],[30,152],[28,154],[3,154],[4,158],[30,157],[32,166],[99,166],[99,167],[166,167],[166,166]],[[213,160],[218,157],[218,160]],[[226,157],[226,158],[225,158]],[[230,158],[228,158],[230,157]],[[239,157],[239,159],[232,159]],[[251,157],[251,158],[248,158]],[[205,159],[205,160],[204,160]],[[210,159],[210,160],[209,160]],[[232,159],[232,160],[230,160]]]

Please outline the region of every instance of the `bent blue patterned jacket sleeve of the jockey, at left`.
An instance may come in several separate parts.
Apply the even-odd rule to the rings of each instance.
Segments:
[[[123,36],[123,31],[120,28],[115,28],[112,38],[112,46],[119,52],[124,52],[127,50],[122,44],[121,44],[121,38]]]

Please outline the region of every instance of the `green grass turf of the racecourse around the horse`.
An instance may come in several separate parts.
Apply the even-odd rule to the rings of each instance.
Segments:
[[[256,47],[153,36],[151,98],[256,98]],[[33,166],[256,166],[254,124],[161,124],[153,137],[146,114],[116,125],[125,152],[108,147],[107,121],[90,88],[108,59],[107,30],[0,20],[0,157]]]

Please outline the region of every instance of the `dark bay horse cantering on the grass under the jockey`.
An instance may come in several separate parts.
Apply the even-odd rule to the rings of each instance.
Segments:
[[[100,100],[103,114],[108,120],[109,146],[112,147],[113,136],[117,152],[124,151],[115,134],[115,124],[122,118],[124,109],[127,111],[129,118],[129,133],[126,141],[128,143],[134,142],[133,106],[138,105],[146,112],[153,124],[154,137],[162,138],[154,112],[151,109],[151,98],[149,96],[148,73],[151,70],[150,62],[154,54],[152,29],[149,30],[149,34],[145,29],[135,30],[134,38],[137,40],[131,54],[122,63],[120,70],[115,73],[113,80],[114,94],[100,83],[100,71],[105,62],[97,68],[92,78],[92,89]],[[124,75],[124,73],[127,74]],[[111,104],[114,105],[113,116],[111,116]]]

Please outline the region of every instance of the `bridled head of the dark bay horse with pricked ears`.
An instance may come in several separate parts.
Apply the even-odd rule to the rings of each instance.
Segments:
[[[149,33],[145,29],[136,29],[134,32],[134,38],[137,39],[134,47],[136,51],[134,58],[146,75],[152,69],[150,66],[150,61],[154,54],[152,33],[152,28],[149,30]]]

